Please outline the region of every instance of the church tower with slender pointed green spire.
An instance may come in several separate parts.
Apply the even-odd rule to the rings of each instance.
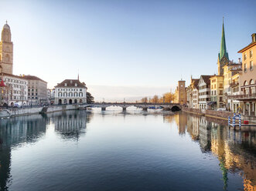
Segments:
[[[221,35],[221,42],[220,42],[220,53],[218,55],[218,75],[223,75],[223,66],[228,64],[229,58],[226,48],[226,40],[225,40],[225,32],[224,32],[224,21],[222,24],[222,35]]]

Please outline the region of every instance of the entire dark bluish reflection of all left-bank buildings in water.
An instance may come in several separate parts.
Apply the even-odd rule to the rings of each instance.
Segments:
[[[63,139],[78,140],[85,134],[91,114],[87,112],[54,112],[47,115],[20,116],[1,119],[0,126],[0,190],[8,190],[12,183],[11,151],[22,144],[43,139],[46,126],[53,122],[54,128]]]

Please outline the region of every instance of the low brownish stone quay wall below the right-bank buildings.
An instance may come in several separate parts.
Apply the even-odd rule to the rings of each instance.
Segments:
[[[227,111],[215,111],[215,110],[207,110],[207,109],[192,109],[192,108],[187,108],[183,107],[183,112],[189,112],[193,114],[197,114],[200,116],[207,116],[207,117],[212,117],[216,119],[224,119],[228,120],[228,117],[230,116],[231,120],[232,117],[234,116],[234,112],[227,112]],[[247,120],[249,122],[256,123],[256,117],[252,116],[241,116],[242,120]]]

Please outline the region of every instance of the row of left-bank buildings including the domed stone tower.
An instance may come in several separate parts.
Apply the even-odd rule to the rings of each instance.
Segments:
[[[35,75],[13,74],[13,42],[10,26],[2,28],[0,42],[0,106],[73,104],[87,102],[87,86],[77,79],[65,79],[54,89]]]

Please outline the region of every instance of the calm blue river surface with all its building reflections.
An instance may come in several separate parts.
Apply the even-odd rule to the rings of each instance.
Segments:
[[[255,132],[212,120],[97,109],[2,119],[0,189],[256,190]]]

